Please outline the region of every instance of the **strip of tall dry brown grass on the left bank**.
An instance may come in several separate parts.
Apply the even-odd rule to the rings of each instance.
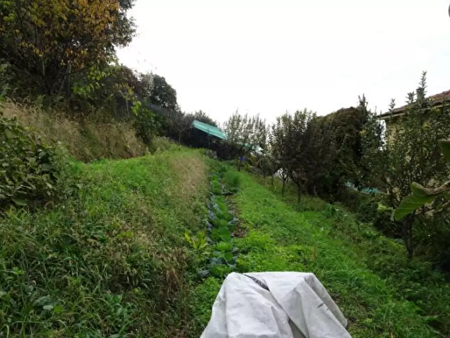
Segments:
[[[78,159],[128,158],[145,154],[147,147],[125,122],[75,121],[57,111],[7,102],[4,115],[35,131],[44,141],[59,141]]]

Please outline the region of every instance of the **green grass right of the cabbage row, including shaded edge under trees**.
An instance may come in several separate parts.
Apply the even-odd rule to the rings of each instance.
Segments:
[[[240,217],[237,268],[248,271],[310,271],[317,275],[349,320],[353,337],[449,336],[450,287],[424,262],[405,259],[401,243],[356,222],[345,210],[317,198],[296,204],[265,182],[241,173],[235,196]],[[220,281],[196,289],[198,336],[210,316]]]

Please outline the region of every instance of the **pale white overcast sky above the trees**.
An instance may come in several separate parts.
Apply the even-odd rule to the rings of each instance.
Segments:
[[[137,0],[138,36],[121,63],[153,71],[183,111],[218,122],[233,111],[268,121],[307,107],[398,106],[428,72],[450,89],[448,0]]]

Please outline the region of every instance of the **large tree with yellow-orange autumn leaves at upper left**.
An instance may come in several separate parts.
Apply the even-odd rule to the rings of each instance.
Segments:
[[[135,32],[132,0],[0,0],[0,59],[38,93],[69,93],[72,74],[115,58]]]

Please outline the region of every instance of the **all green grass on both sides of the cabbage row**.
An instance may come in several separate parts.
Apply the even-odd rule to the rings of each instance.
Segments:
[[[1,219],[0,337],[200,336],[223,278],[198,275],[213,246],[185,233],[206,230],[219,167],[184,148],[78,163],[74,196]],[[355,338],[450,336],[450,286],[401,243],[289,187],[223,177],[239,186],[214,197],[239,218],[234,269],[315,273]]]

